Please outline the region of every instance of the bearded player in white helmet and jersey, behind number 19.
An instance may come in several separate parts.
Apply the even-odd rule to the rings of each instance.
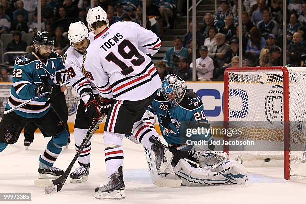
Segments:
[[[94,35],[92,33],[88,35],[88,29],[84,23],[75,22],[69,26],[68,38],[71,46],[63,56],[63,64],[68,70],[72,87],[74,87],[81,97],[80,104],[77,108],[73,132],[75,149],[77,151],[93,120],[85,113],[84,105],[89,100],[98,98],[99,92],[97,88],[87,80],[81,70],[83,54],[89,46],[90,41],[94,40]],[[88,180],[90,152],[91,142],[89,141],[78,158],[80,166],[70,174],[71,183],[85,182]]]

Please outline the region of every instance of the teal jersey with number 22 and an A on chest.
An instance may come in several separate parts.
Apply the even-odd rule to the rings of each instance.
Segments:
[[[62,64],[62,57],[52,52],[46,63],[39,60],[35,53],[28,53],[15,60],[12,74],[13,84],[6,109],[11,109],[27,100],[36,97],[37,85],[53,84],[55,73],[66,71]],[[15,110],[22,117],[40,118],[50,109],[48,98],[42,97],[36,101]]]

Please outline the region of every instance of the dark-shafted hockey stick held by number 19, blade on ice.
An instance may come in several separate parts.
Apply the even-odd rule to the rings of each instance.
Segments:
[[[86,137],[84,138],[73,160],[71,161],[71,163],[69,164],[68,168],[66,169],[63,175],[61,175],[59,178],[55,180],[35,180],[34,185],[45,186],[44,192],[46,194],[60,191],[63,185],[65,184],[66,179],[68,178],[74,163],[76,162],[79,155],[81,154],[81,152],[83,151],[89,140],[91,139],[94,132],[99,128],[99,124],[102,122],[103,119],[104,119],[104,114],[101,116],[99,120],[93,120],[92,124],[90,125],[90,128],[87,131]]]

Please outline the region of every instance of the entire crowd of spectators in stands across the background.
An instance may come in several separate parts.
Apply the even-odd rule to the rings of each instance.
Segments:
[[[209,0],[207,0],[209,1]],[[142,1],[94,0],[101,6],[110,25],[128,20],[143,25]],[[242,52],[243,66],[282,65],[283,16],[281,0],[243,0]],[[306,2],[288,0],[287,63],[306,66]],[[205,0],[202,3],[206,3]],[[209,1],[211,3],[211,1]],[[174,27],[175,16],[185,14],[186,0],[146,0],[147,29],[163,39],[164,32]],[[41,0],[42,30],[50,32],[55,47],[64,51],[69,46],[66,32],[71,22],[85,25],[90,0]],[[0,35],[13,33],[6,51],[25,51],[22,34],[37,31],[37,0],[0,0]],[[186,81],[192,80],[192,51],[196,52],[196,79],[223,80],[227,67],[239,66],[238,0],[221,0],[215,13],[206,13],[203,22],[189,23],[189,32],[173,39],[162,61],[156,64],[163,79],[175,73]],[[202,25],[203,24],[203,25]],[[196,47],[192,46],[192,27],[196,30]],[[175,35],[175,33],[173,33]],[[13,65],[14,58],[7,57]]]

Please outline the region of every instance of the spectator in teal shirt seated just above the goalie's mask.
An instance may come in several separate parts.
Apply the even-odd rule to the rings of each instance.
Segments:
[[[164,58],[162,59],[167,65],[167,72],[172,73],[173,69],[177,67],[178,57],[183,56],[188,58],[188,49],[182,46],[180,37],[176,37],[173,41],[174,47],[167,50]],[[173,60],[174,55],[174,60]]]

